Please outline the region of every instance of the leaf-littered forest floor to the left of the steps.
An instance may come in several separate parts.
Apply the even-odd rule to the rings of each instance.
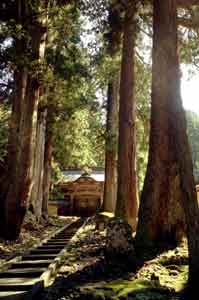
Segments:
[[[12,242],[0,240],[0,268],[8,260],[38,245],[74,219],[72,217],[49,217],[46,221],[38,223],[35,217],[28,213],[18,240]]]

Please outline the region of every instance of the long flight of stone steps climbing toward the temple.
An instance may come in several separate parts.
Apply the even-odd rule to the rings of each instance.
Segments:
[[[32,299],[52,283],[66,254],[65,247],[82,223],[67,224],[40,246],[9,261],[0,273],[0,300]]]

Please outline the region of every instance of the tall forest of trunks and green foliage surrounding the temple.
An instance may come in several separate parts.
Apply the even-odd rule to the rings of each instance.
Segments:
[[[198,13],[196,0],[1,1],[0,237],[16,240],[28,212],[48,219],[57,174],[103,167],[97,207],[128,223],[136,259],[186,237],[197,287],[199,115],[180,64],[197,73]]]

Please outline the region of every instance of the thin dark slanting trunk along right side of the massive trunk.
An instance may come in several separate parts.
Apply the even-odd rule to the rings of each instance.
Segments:
[[[180,187],[184,197],[181,197],[184,208],[188,250],[189,250],[189,291],[195,299],[198,291],[199,276],[199,207],[193,176],[191,151],[186,131],[186,117],[182,107],[180,94],[180,70],[177,54],[177,9],[176,0],[170,1],[171,16],[173,18],[172,52],[169,65],[170,78],[170,130],[173,133],[173,148],[178,162]],[[164,12],[165,13],[165,12]],[[172,15],[173,14],[173,15]]]

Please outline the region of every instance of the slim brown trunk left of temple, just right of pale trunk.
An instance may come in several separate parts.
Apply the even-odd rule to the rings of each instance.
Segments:
[[[47,218],[48,216],[48,199],[49,199],[50,185],[51,185],[52,150],[53,150],[53,135],[52,132],[48,132],[46,136],[45,154],[44,154],[44,179],[43,179],[43,203],[42,203],[42,216],[44,218]]]

